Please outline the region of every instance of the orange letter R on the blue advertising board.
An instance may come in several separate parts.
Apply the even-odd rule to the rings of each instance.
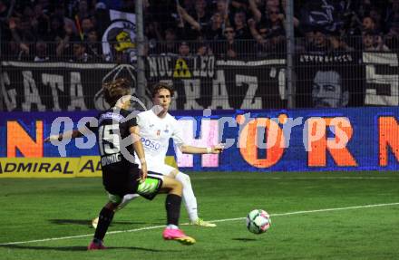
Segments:
[[[310,118],[307,120],[307,166],[326,167],[326,150],[337,166],[357,166],[355,158],[346,148],[352,138],[353,129],[346,118]],[[326,128],[333,127],[336,132],[334,139],[326,139]],[[341,144],[341,145],[340,145]]]

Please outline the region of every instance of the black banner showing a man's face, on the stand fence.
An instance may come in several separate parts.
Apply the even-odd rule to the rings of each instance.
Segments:
[[[297,55],[297,107],[364,104],[364,72],[359,53]]]

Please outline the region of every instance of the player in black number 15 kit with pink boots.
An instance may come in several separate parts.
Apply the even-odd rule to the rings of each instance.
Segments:
[[[100,211],[99,223],[88,250],[106,248],[102,240],[112,222],[114,210],[122,202],[124,195],[134,193],[148,199],[152,199],[158,193],[168,193],[167,226],[162,236],[166,240],[175,240],[183,245],[193,245],[195,239],[186,236],[179,228],[181,183],[174,178],[147,172],[139,135],[140,129],[136,118],[127,111],[131,105],[130,83],[125,79],[117,79],[104,83],[102,90],[104,100],[110,104],[111,109],[100,113],[98,127],[87,124],[85,130],[73,130],[46,139],[53,142],[80,137],[91,130],[97,133],[102,163],[102,183],[108,192],[109,202]],[[134,163],[134,151],[141,161],[141,169]]]

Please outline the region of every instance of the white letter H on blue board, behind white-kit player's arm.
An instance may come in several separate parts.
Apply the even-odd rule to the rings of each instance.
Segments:
[[[188,145],[197,147],[211,147],[216,145],[219,140],[219,122],[218,120],[201,120],[200,136],[195,139],[196,120],[178,120],[179,127],[183,130],[183,140],[186,140]],[[175,147],[177,164],[179,167],[193,167],[192,154],[183,154],[180,149]],[[218,167],[218,154],[203,154],[201,155],[202,167]]]

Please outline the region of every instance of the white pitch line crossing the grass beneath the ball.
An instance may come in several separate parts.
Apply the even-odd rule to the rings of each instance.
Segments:
[[[371,205],[353,206],[353,207],[321,208],[321,209],[314,209],[314,210],[302,210],[302,211],[293,211],[293,212],[286,212],[286,213],[270,214],[270,217],[281,217],[281,216],[299,215],[299,214],[308,214],[308,213],[317,213],[317,212],[326,212],[326,211],[358,209],[358,208],[366,208],[366,207],[387,207],[387,206],[397,206],[397,205],[399,205],[399,202],[383,203],[383,204],[371,204]],[[209,220],[209,222],[227,222],[227,221],[236,221],[236,220],[243,220],[243,219],[245,219],[245,217]],[[189,224],[188,223],[184,223],[182,225],[189,225]],[[120,234],[120,233],[130,233],[130,232],[139,232],[139,231],[143,231],[143,230],[151,230],[151,229],[162,228],[162,227],[165,227],[165,225],[147,226],[147,227],[140,227],[140,228],[128,229],[128,230],[110,231],[110,232],[107,232],[107,235]],[[87,237],[87,236],[92,236],[92,234],[85,234],[85,235],[79,235],[79,236],[61,236],[61,237],[44,238],[44,239],[37,239],[37,240],[9,242],[9,243],[0,244],[0,246],[21,245],[21,244],[27,244],[27,243],[46,242],[46,241],[55,241],[55,240],[65,240],[65,239],[73,239],[73,238],[80,238],[80,237]]]

